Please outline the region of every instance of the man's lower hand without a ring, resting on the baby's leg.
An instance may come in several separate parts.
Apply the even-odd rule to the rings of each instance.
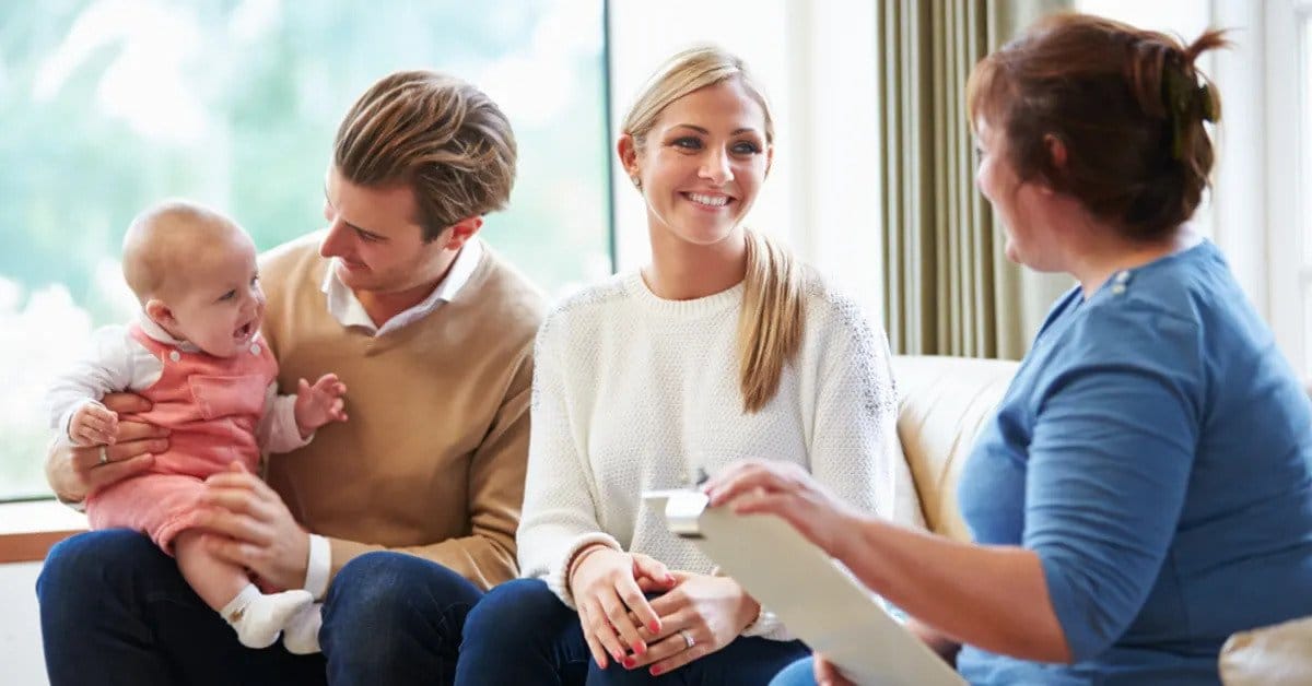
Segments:
[[[197,526],[206,530],[210,552],[244,567],[279,589],[306,585],[310,534],[269,484],[234,462],[205,480]]]

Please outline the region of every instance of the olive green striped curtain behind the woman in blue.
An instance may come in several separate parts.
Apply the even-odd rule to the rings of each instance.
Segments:
[[[884,325],[899,354],[1018,359],[1072,281],[1002,256],[975,189],[966,80],[1063,0],[876,0]]]

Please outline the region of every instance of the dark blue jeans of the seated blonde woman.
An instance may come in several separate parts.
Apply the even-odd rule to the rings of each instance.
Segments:
[[[760,686],[810,655],[800,641],[739,637],[668,674],[652,677],[610,664],[597,669],[579,614],[537,578],[501,584],[470,613],[455,682],[463,686],[551,685],[744,685]]]

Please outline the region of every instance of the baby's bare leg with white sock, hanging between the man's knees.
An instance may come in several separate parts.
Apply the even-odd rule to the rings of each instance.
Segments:
[[[201,536],[199,531],[188,530],[173,539],[182,577],[206,605],[232,624],[243,645],[273,645],[287,622],[314,601],[310,592],[260,593],[244,569],[210,554]]]

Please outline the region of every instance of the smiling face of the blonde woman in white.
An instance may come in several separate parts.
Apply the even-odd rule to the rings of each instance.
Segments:
[[[710,245],[729,237],[747,215],[771,155],[765,111],[729,80],[669,104],[625,163],[642,182],[653,232]]]

